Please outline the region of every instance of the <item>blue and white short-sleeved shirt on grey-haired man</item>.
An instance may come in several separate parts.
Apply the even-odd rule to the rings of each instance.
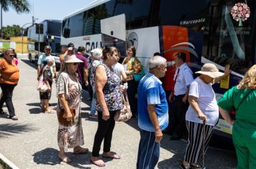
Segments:
[[[147,112],[147,105],[155,105],[155,113],[161,130],[168,127],[168,103],[162,82],[154,74],[147,72],[138,87],[138,125],[140,129],[155,132]]]

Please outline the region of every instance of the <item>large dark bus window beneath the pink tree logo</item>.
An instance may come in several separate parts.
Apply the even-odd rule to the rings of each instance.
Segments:
[[[244,74],[253,64],[252,57],[252,24],[253,13],[247,21],[235,21],[230,14],[234,4],[213,6],[211,37],[208,49],[204,50],[207,59],[225,66],[231,65],[231,69],[239,74]],[[254,5],[250,5],[254,11]],[[209,27],[206,28],[209,30]],[[209,36],[209,34],[206,34]]]

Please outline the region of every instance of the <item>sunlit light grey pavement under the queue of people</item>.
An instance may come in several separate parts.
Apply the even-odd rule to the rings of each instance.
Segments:
[[[86,93],[83,93],[81,104],[85,140],[83,147],[88,148],[90,153],[73,155],[72,150],[69,149],[67,155],[72,162],[60,163],[57,116],[56,114],[45,115],[40,110],[39,93],[36,90],[37,70],[34,64],[30,64],[27,58],[19,61],[20,80],[14,89],[13,96],[19,120],[9,120],[6,119],[6,115],[0,115],[0,153],[19,168],[96,168],[90,163],[90,158],[97,122],[88,116],[90,102],[85,101],[88,97]],[[55,84],[52,85],[52,90],[50,103],[53,107],[57,102]],[[116,122],[111,150],[119,153],[122,159],[109,161],[104,159],[105,168],[136,168],[139,140],[140,132],[136,118],[127,123]],[[170,141],[165,135],[161,142],[157,168],[178,168],[178,165],[182,163],[185,148],[186,143],[183,141]],[[206,153],[206,167],[208,168],[234,168],[235,164],[234,155],[231,153],[219,150],[208,150]]]

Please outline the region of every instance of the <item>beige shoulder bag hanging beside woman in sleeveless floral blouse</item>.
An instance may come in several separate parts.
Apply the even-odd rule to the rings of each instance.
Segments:
[[[129,106],[129,100],[126,91],[124,91],[122,94],[122,102],[124,104],[124,107],[122,108],[122,110],[118,110],[114,115],[114,120],[116,122],[126,122],[132,117],[132,111]]]

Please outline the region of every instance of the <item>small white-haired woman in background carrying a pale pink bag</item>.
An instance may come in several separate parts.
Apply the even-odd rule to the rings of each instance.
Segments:
[[[53,57],[45,57],[44,67],[40,70],[40,74],[37,79],[40,79],[40,76],[43,76],[44,82],[47,84],[47,92],[40,92],[40,100],[42,100],[42,110],[45,113],[52,113],[52,110],[49,106],[49,100],[52,94],[52,78],[53,74],[51,71],[52,64],[54,62]]]

